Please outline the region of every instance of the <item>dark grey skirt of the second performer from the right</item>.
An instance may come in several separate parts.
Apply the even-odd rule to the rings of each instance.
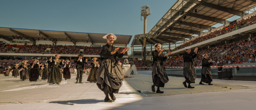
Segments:
[[[183,74],[187,83],[195,83],[196,70],[192,62],[184,62]]]

